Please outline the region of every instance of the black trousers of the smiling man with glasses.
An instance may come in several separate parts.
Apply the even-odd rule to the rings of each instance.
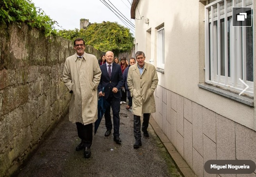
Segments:
[[[82,140],[84,147],[91,147],[93,141],[93,123],[83,125],[80,122],[75,123],[77,125],[78,137]]]

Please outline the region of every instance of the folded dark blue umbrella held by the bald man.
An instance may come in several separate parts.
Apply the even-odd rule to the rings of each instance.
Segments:
[[[102,88],[102,93],[104,93],[104,88]],[[100,97],[98,100],[98,119],[94,123],[94,134],[96,134],[98,127],[100,126],[102,117],[108,106],[109,103],[104,99],[104,97]]]

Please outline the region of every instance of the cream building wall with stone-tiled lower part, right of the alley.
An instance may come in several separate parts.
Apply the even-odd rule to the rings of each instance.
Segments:
[[[254,9],[255,4],[254,0]],[[204,163],[209,159],[256,162],[254,107],[198,87],[205,78],[204,4],[199,0],[140,0],[135,13],[141,18],[135,20],[136,51],[145,52],[146,62],[154,59],[155,66],[156,27],[164,23],[165,70],[158,72],[152,117],[190,168],[199,177],[222,177],[206,173]],[[255,13],[253,19],[256,24]],[[254,54],[254,63],[255,58]],[[254,90],[254,99],[255,94]],[[251,176],[256,176],[255,172]]]

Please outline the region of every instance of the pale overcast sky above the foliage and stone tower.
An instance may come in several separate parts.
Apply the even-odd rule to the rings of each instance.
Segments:
[[[124,16],[134,24],[131,19],[131,1],[132,0],[105,0],[109,5],[109,1]],[[100,0],[31,0],[36,7],[40,7],[45,14],[50,16],[59,25],[66,30],[80,28],[80,19],[89,19],[91,23],[102,23],[102,21],[118,22],[120,25],[127,27],[112,11],[110,11]],[[112,5],[111,5],[112,6]],[[114,11],[115,12],[115,11]],[[131,28],[131,27],[130,27]],[[56,27],[56,29],[61,29]],[[132,29],[132,28],[131,28]],[[132,29],[135,31],[135,29]],[[131,30],[130,30],[131,31]],[[132,34],[134,32],[131,31]]]

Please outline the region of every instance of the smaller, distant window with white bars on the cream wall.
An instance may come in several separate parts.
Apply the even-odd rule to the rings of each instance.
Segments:
[[[165,29],[161,26],[157,30],[157,68],[165,68]]]

